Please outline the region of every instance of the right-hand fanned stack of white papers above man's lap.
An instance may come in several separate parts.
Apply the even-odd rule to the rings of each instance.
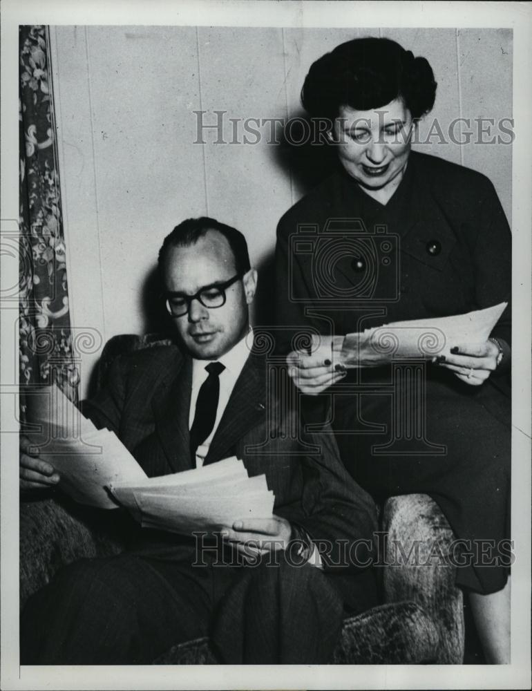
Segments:
[[[271,518],[274,509],[266,476],[249,477],[236,457],[140,483],[113,482],[111,491],[143,527],[182,534]]]

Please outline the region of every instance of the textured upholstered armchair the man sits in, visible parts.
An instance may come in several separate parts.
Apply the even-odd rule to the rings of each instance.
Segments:
[[[117,336],[106,344],[97,371],[102,386],[117,354],[147,348],[156,337]],[[48,583],[57,569],[84,557],[124,549],[120,521],[71,502],[59,491],[45,498],[21,498],[20,605]],[[107,512],[104,512],[107,514]],[[114,512],[113,512],[114,513]],[[382,569],[383,604],[346,618],[334,654],[339,664],[460,664],[464,658],[462,591],[455,567],[429,559],[435,542],[442,554],[453,540],[444,515],[426,495],[389,499],[380,511],[388,533]],[[397,541],[419,547],[417,564],[402,563]],[[216,664],[208,638],[175,645],[157,664]]]

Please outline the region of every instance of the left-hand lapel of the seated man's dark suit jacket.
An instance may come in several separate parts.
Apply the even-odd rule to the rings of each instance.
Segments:
[[[175,473],[192,468],[190,455],[189,410],[192,388],[192,361],[183,357],[175,378],[168,382],[153,408],[155,427]]]

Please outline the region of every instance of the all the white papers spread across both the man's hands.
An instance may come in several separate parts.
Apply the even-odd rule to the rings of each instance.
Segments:
[[[30,441],[59,472],[59,486],[81,504],[122,504],[143,527],[187,534],[244,518],[271,518],[265,475],[249,477],[236,457],[173,475],[147,477],[113,432],[97,430],[57,386],[30,399]]]

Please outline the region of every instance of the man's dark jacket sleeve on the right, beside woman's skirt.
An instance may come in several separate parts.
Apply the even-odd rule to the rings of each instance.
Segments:
[[[324,569],[368,567],[377,531],[375,504],[345,471],[330,428],[306,439],[321,453],[302,458],[301,500],[276,507],[276,514],[307,531]]]

